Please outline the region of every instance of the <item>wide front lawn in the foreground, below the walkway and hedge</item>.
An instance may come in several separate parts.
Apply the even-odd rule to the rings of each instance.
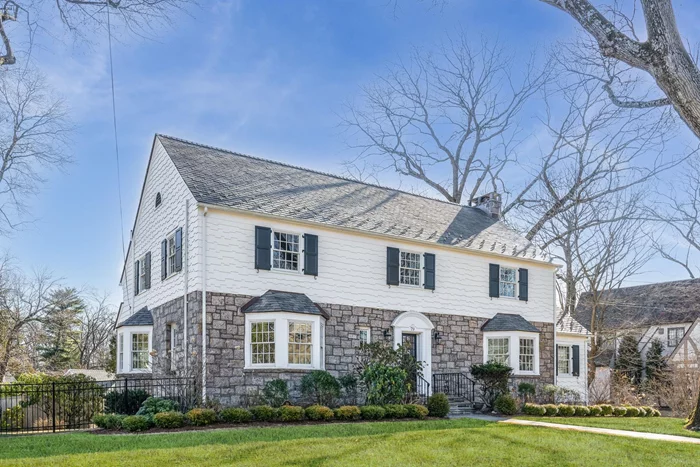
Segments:
[[[0,465],[687,466],[698,446],[479,420],[0,438]]]

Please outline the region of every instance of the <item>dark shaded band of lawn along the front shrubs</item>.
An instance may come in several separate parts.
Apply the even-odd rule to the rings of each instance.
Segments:
[[[206,445],[285,441],[313,438],[390,436],[395,433],[446,429],[479,429],[492,422],[472,419],[271,426],[144,435],[47,434],[0,438],[0,459],[65,454],[173,449]],[[378,438],[383,438],[378,436]],[[380,440],[378,439],[377,442]]]

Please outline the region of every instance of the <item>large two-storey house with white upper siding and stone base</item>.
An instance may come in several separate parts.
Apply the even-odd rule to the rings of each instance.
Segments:
[[[554,383],[557,266],[498,220],[497,195],[472,204],[156,135],[117,372],[204,375],[207,397],[237,404],[273,378],[352,372],[360,342],[385,340],[431,391],[488,360]]]

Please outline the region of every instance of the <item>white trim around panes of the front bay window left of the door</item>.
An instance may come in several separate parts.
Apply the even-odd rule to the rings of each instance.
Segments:
[[[275,323],[275,363],[260,364],[251,363],[250,352],[250,331],[251,323],[274,321]],[[289,363],[289,323],[311,323],[311,364],[291,364]],[[306,315],[302,313],[246,313],[245,316],[245,366],[244,369],[309,369],[323,370],[325,368],[325,358],[322,354],[322,343],[325,341],[321,337],[321,325],[325,324],[325,319],[320,315]],[[325,327],[325,326],[324,326]]]

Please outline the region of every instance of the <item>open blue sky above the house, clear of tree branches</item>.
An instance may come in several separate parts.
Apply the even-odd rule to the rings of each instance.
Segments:
[[[114,44],[124,236],[128,239],[156,132],[340,172],[352,153],[337,114],[387,63],[448,32],[498,37],[528,54],[574,34],[574,24],[534,0],[206,1],[155,40]],[[681,26],[697,24],[684,12]],[[36,223],[3,239],[26,269],[119,300],[119,200],[105,38],[86,47],[46,41],[34,55],[77,125],[74,163],[48,174],[32,201]],[[646,280],[683,278],[658,263]]]

